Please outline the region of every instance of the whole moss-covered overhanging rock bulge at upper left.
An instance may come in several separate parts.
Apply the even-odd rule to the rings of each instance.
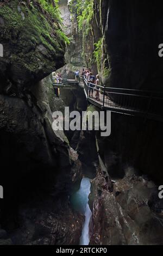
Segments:
[[[39,81],[64,65],[65,39],[58,20],[42,9],[39,1],[9,1],[0,9],[0,41],[4,46],[5,74],[10,81]]]

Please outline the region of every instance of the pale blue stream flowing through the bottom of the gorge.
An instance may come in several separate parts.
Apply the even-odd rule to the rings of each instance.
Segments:
[[[83,178],[79,190],[71,197],[71,204],[73,208],[85,216],[82,236],[80,237],[80,245],[89,245],[90,242],[89,223],[92,216],[92,212],[88,204],[90,188],[90,179]]]

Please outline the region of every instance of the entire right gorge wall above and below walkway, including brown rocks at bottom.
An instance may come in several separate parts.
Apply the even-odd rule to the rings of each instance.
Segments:
[[[148,8],[146,1],[93,1],[89,56],[95,50],[92,42],[101,39],[97,68],[102,83],[162,92],[161,13],[154,1]],[[109,138],[96,132],[105,172],[100,167],[92,182],[90,243],[160,245],[162,202],[157,186],[163,181],[162,122],[112,113],[111,130]]]

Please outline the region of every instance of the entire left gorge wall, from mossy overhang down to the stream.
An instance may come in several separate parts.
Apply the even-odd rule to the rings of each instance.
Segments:
[[[0,5],[0,243],[78,244],[83,217],[68,194],[81,164],[52,130],[52,84],[40,82],[64,65],[59,23],[37,1]]]

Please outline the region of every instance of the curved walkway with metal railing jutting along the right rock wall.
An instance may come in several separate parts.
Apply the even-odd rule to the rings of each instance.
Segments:
[[[93,105],[112,112],[163,120],[163,93],[96,86],[82,78],[87,100]]]

